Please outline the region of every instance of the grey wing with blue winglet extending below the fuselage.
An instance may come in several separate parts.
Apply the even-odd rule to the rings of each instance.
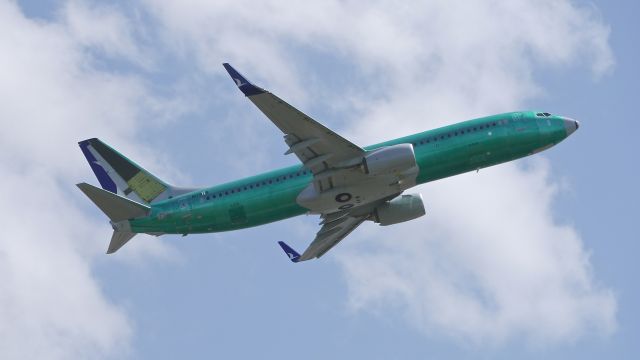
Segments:
[[[282,241],[280,241],[279,244],[293,262],[319,258],[347,237],[355,228],[367,220],[368,217],[369,214],[351,216],[347,212],[323,215],[323,221],[321,222],[321,224],[323,224],[322,228],[320,228],[320,231],[316,234],[316,238],[302,255],[299,255]]]

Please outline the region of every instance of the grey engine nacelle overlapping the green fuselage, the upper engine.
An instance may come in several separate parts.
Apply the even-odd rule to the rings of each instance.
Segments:
[[[373,176],[402,173],[416,167],[416,154],[411,144],[397,144],[374,150],[362,161],[364,173]]]

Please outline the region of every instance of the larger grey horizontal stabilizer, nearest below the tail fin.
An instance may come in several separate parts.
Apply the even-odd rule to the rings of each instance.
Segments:
[[[82,192],[87,195],[87,197],[91,199],[91,201],[93,201],[93,203],[96,204],[96,206],[99,207],[112,222],[147,216],[151,211],[151,208],[147,205],[137,203],[133,200],[129,200],[93,185],[80,183],[76,186],[80,188],[80,190],[82,190]]]

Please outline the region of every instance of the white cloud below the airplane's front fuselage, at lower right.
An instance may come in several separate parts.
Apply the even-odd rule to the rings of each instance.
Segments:
[[[537,159],[422,186],[426,218],[371,225],[337,253],[349,306],[393,305],[426,333],[476,344],[611,333],[615,297],[594,280],[577,231],[553,219],[549,171]]]

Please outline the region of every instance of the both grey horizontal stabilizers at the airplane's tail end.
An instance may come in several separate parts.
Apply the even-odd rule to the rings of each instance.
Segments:
[[[151,208],[147,205],[137,203],[93,185],[80,183],[77,186],[111,220],[113,235],[111,236],[107,254],[116,252],[136,235],[131,232],[129,219],[147,216],[151,211]]]

